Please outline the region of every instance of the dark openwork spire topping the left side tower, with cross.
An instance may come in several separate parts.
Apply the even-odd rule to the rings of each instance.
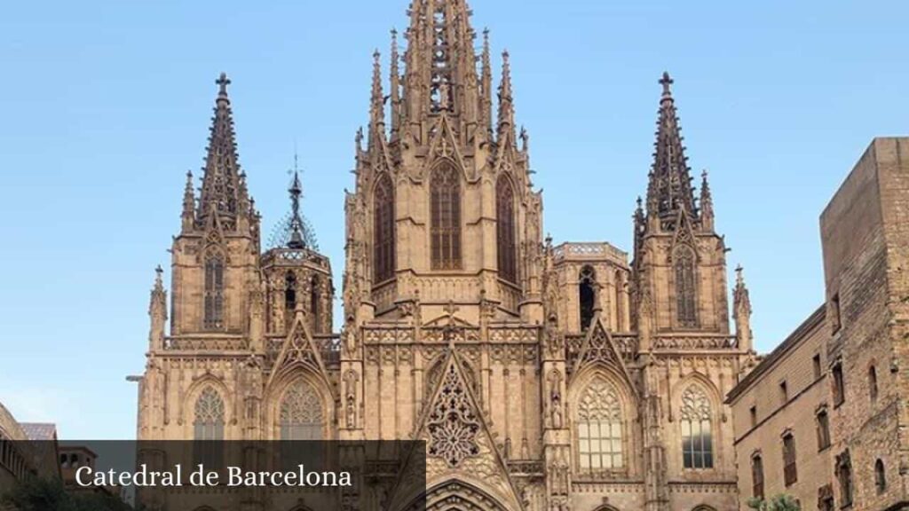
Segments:
[[[199,216],[205,218],[213,211],[225,217],[228,228],[235,225],[234,218],[239,208],[240,164],[236,154],[234,118],[231,113],[227,85],[231,81],[225,73],[215,81],[218,95],[215,100],[215,116],[212,119],[211,135],[205,156],[205,173],[202,178],[202,195],[199,199]]]

